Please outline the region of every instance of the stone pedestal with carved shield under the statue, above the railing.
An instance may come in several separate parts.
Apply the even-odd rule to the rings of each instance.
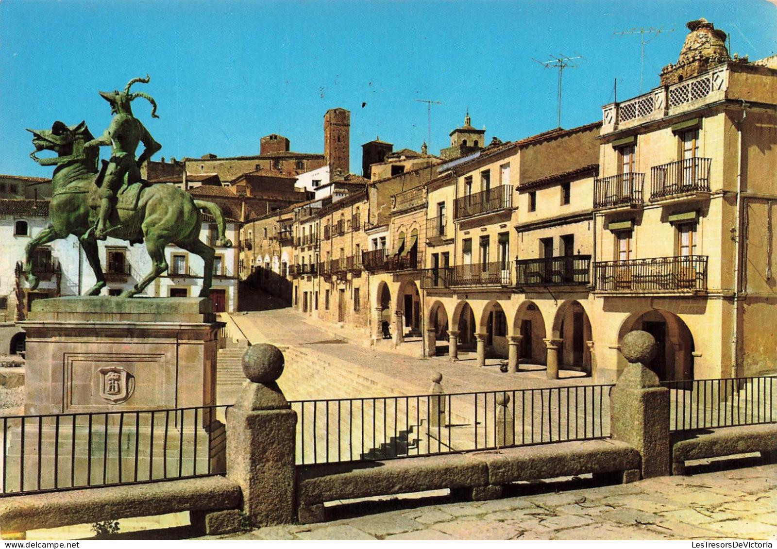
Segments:
[[[204,297],[33,302],[26,414],[215,404],[218,329]]]

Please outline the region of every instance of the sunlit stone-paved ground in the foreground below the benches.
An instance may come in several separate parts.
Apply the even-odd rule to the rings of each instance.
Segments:
[[[586,481],[576,485],[581,483]],[[385,511],[387,506],[393,509]],[[489,502],[395,500],[382,507],[372,502],[351,507],[351,518],[270,526],[218,539],[773,540],[777,465],[651,478],[630,485],[589,485]]]

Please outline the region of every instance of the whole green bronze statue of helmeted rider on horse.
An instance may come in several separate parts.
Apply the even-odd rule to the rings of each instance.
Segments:
[[[97,238],[110,235],[130,241],[145,241],[152,269],[146,276],[124,290],[120,297],[141,293],[168,268],[165,247],[174,244],[204,260],[204,273],[200,297],[207,297],[213,278],[214,249],[200,241],[202,214],[207,210],[218,227],[218,245],[231,246],[225,236],[225,222],[219,207],[193,197],[176,186],[140,179],[139,167],[159,151],[148,130],[134,118],[129,103],[135,97],[154,100],[141,93],[130,94],[134,82],[148,82],[148,77],[131,80],[124,92],[100,92],[111,103],[116,114],[102,137],[97,139],[89,132],[86,123],[67,126],[57,120],[51,130],[28,130],[33,134],[35,151],[30,154],[40,165],[53,165],[51,179],[52,196],[49,205],[50,224],[26,246],[24,272],[30,289],[38,285],[33,273],[31,257],[37,246],[68,235],[81,239],[86,259],[96,276],[96,283],[86,295],[98,295],[105,287],[105,277],[100,266]],[[143,143],[145,151],[136,161],[134,151]],[[99,146],[110,145],[110,162],[103,160],[98,172]],[[53,158],[38,158],[40,151],[54,151]]]

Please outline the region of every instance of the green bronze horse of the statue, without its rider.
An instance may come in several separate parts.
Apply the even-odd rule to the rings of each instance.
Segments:
[[[28,131],[33,134],[35,146],[35,151],[30,154],[30,158],[40,165],[56,166],[51,179],[50,224],[26,246],[24,273],[30,289],[34,290],[38,285],[38,279],[33,273],[32,262],[30,262],[33,250],[37,246],[58,238],[66,238],[68,235],[80,238],[95,224],[96,207],[99,203],[99,199],[96,198],[99,151],[96,148],[84,148],[84,143],[93,138],[84,122],[68,127],[57,121],[51,130]],[[44,150],[54,151],[57,156],[37,158],[36,153]],[[103,161],[103,168],[104,164],[105,161]],[[200,241],[202,225],[200,210],[207,210],[215,218],[218,226],[218,243],[231,246],[232,242],[224,234],[224,217],[219,207],[212,202],[194,200],[186,191],[169,184],[148,185],[145,182],[137,182],[125,187],[124,194],[130,197],[137,196],[137,199],[131,200],[133,207],[116,209],[111,218],[114,227],[111,230],[111,236],[131,243],[145,241],[148,255],[152,259],[152,269],[134,287],[124,290],[120,297],[139,294],[167,270],[165,247],[169,244],[175,244],[204,259],[200,297],[207,297],[213,279],[215,252],[213,248]],[[97,241],[89,237],[82,241],[82,246],[97,279],[96,284],[86,292],[86,295],[98,295],[106,283],[97,253]]]

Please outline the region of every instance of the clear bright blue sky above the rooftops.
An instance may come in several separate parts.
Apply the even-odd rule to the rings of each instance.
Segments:
[[[685,23],[705,17],[751,59],[777,53],[777,7],[737,2],[0,2],[0,173],[51,174],[28,158],[24,128],[110,121],[98,89],[135,85],[133,103],[166,158],[258,154],[270,133],[322,152],[327,109],[351,111],[350,165],[379,135],[420,148],[436,99],[430,151],[447,145],[469,107],[486,137],[514,140],[556,127],[555,69],[532,59],[582,55],[564,71],[562,126],[598,120],[639,93],[637,26],[674,28],[646,46],[645,89],[677,60]],[[364,103],[364,106],[362,106]],[[103,156],[107,151],[103,151]]]

